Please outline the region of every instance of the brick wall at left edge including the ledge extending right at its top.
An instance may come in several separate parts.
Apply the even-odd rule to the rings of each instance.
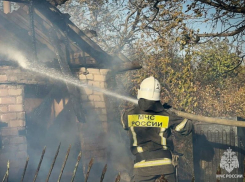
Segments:
[[[46,84],[47,79],[13,66],[0,66],[0,177],[10,160],[10,181],[21,176],[27,157],[24,84]],[[11,179],[12,178],[12,179]]]

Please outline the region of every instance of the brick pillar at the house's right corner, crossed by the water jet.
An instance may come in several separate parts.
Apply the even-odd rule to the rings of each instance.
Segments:
[[[88,85],[106,88],[108,69],[81,68],[79,79]],[[85,74],[84,74],[85,73]],[[81,145],[85,163],[91,158],[97,162],[105,161],[106,133],[108,132],[107,108],[104,94],[90,89],[81,88],[83,109],[87,122],[82,124]],[[93,127],[94,126],[94,127]]]

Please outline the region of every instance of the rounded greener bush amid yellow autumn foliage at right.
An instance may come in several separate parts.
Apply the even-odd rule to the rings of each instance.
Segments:
[[[205,84],[222,86],[225,78],[235,78],[240,71],[237,68],[241,59],[234,52],[234,46],[228,40],[214,39],[195,47],[192,51],[196,65],[196,80]]]

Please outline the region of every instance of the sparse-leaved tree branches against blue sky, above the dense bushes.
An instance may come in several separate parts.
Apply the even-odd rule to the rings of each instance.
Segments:
[[[244,0],[70,0],[60,9],[111,54],[134,54],[139,44],[147,54],[175,42],[184,48],[226,37],[241,60],[245,55]]]

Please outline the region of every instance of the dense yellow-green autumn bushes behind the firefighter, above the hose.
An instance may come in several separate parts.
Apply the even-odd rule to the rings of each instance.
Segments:
[[[214,117],[245,117],[245,69],[244,65],[234,69],[240,59],[227,41],[214,39],[189,49],[184,56],[173,56],[168,49],[140,59],[143,69],[118,79],[131,95],[136,95],[144,78],[154,76],[162,83],[162,102],[179,110]]]

